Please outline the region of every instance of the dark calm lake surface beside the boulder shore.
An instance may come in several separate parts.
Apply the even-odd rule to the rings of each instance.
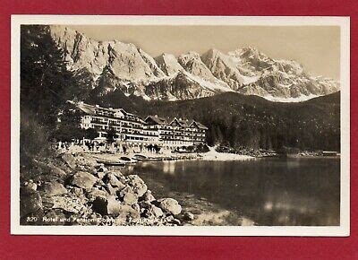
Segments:
[[[339,225],[339,158],[145,162],[132,171],[255,225]]]

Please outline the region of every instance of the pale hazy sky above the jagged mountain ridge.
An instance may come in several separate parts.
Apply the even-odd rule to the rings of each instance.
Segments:
[[[133,43],[150,56],[190,50],[224,53],[258,48],[277,59],[294,59],[309,74],[339,81],[340,30],[338,26],[213,26],[213,25],[76,25],[70,26],[96,40]]]

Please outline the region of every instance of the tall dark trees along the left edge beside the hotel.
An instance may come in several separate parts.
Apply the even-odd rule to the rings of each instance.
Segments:
[[[81,133],[78,115],[66,112],[66,101],[81,100],[93,82],[88,71],[68,69],[64,56],[48,26],[21,25],[21,159],[48,152],[55,136],[93,134]]]

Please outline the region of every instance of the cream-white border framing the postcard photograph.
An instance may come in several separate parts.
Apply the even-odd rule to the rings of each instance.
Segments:
[[[340,26],[341,204],[340,226],[22,226],[20,225],[20,26],[64,25],[263,25]],[[150,236],[315,236],[350,234],[350,19],[349,17],[12,15],[11,30],[11,234],[16,235],[150,235]]]

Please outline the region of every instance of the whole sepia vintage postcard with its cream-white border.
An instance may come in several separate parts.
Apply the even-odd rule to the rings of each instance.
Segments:
[[[346,17],[12,17],[12,234],[349,236]]]

